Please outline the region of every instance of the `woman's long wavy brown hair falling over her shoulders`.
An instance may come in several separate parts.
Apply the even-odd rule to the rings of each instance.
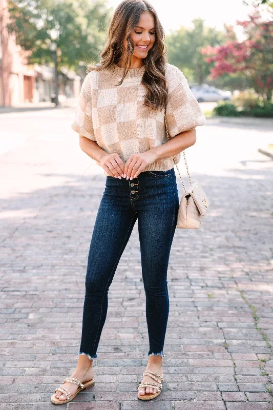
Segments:
[[[99,64],[88,65],[87,73],[92,70],[109,69],[112,64],[122,61],[124,67],[123,79],[131,66],[134,43],[130,37],[131,31],[137,26],[140,14],[150,12],[155,19],[155,42],[148,54],[143,58],[145,71],[141,84],[146,87],[144,105],[152,109],[162,109],[166,103],[167,91],[165,81],[165,64],[167,63],[166,46],[163,43],[165,33],[154,7],[146,0],[123,0],[116,8],[108,29],[107,43],[100,54]],[[127,49],[123,40],[127,39]],[[125,67],[128,67],[127,69]]]

